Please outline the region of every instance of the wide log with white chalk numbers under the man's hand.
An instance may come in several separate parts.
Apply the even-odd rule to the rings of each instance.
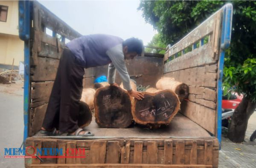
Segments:
[[[149,127],[169,125],[180,109],[178,96],[172,90],[144,92],[143,100],[134,99],[132,115],[136,123]]]

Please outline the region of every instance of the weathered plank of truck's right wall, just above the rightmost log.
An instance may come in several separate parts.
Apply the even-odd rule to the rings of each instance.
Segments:
[[[207,72],[205,66],[168,72],[163,76],[175,78],[176,81],[183,82],[187,85],[217,87],[217,72]]]

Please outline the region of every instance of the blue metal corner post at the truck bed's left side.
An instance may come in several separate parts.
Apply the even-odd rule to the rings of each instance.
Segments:
[[[29,35],[30,35],[30,1],[19,1],[19,37],[24,41],[24,101],[23,101],[23,118],[24,118],[24,134],[23,143],[25,143],[28,137],[28,123],[29,123],[29,103],[30,103],[30,47],[29,47]],[[25,145],[23,145],[24,148]]]

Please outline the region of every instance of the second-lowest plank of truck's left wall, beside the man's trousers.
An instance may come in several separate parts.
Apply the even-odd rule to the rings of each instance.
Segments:
[[[33,89],[30,91],[30,98],[32,99],[30,107],[38,107],[49,102],[53,83],[53,81],[31,83]]]

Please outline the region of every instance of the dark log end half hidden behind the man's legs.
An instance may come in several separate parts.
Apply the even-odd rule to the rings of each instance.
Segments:
[[[79,101],[79,117],[78,117],[78,126],[86,127],[90,125],[92,121],[92,112],[90,107],[83,101]]]

